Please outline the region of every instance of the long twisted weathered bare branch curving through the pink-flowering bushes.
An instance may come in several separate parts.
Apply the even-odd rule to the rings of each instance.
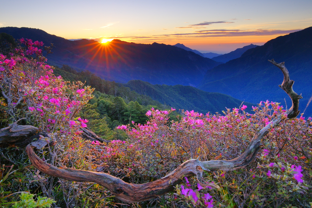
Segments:
[[[280,87],[290,96],[292,100],[292,106],[287,111],[288,118],[294,118],[299,114],[298,106],[301,95],[296,94],[292,85],[293,80],[289,79],[288,70],[283,63],[276,63],[273,59],[269,60],[272,64],[279,67],[284,74],[284,81]],[[203,170],[215,171],[215,170],[235,170],[241,167],[245,167],[256,157],[257,152],[260,149],[261,139],[269,133],[269,129],[275,127],[281,121],[281,117],[272,120],[268,125],[257,132],[251,139],[246,151],[232,160],[210,160],[201,162],[199,160],[191,159],[183,162],[173,172],[167,176],[158,179],[157,181],[144,183],[144,184],[132,184],[126,183],[119,178],[113,177],[106,173],[91,172],[76,170],[72,168],[58,168],[52,166],[46,162],[43,162],[34,152],[33,147],[29,144],[26,148],[29,159],[32,164],[38,168],[41,172],[50,176],[64,178],[70,181],[90,181],[98,183],[113,193],[116,198],[121,201],[132,203],[145,201],[155,198],[173,190],[173,186],[182,182],[181,177],[196,175],[197,178],[202,177]],[[211,186],[211,184],[210,184]],[[214,187],[218,187],[215,185]]]

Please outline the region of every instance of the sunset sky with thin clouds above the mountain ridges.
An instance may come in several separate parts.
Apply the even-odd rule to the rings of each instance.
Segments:
[[[312,26],[312,0],[0,0],[0,27],[228,53]],[[6,9],[3,9],[6,8]]]

